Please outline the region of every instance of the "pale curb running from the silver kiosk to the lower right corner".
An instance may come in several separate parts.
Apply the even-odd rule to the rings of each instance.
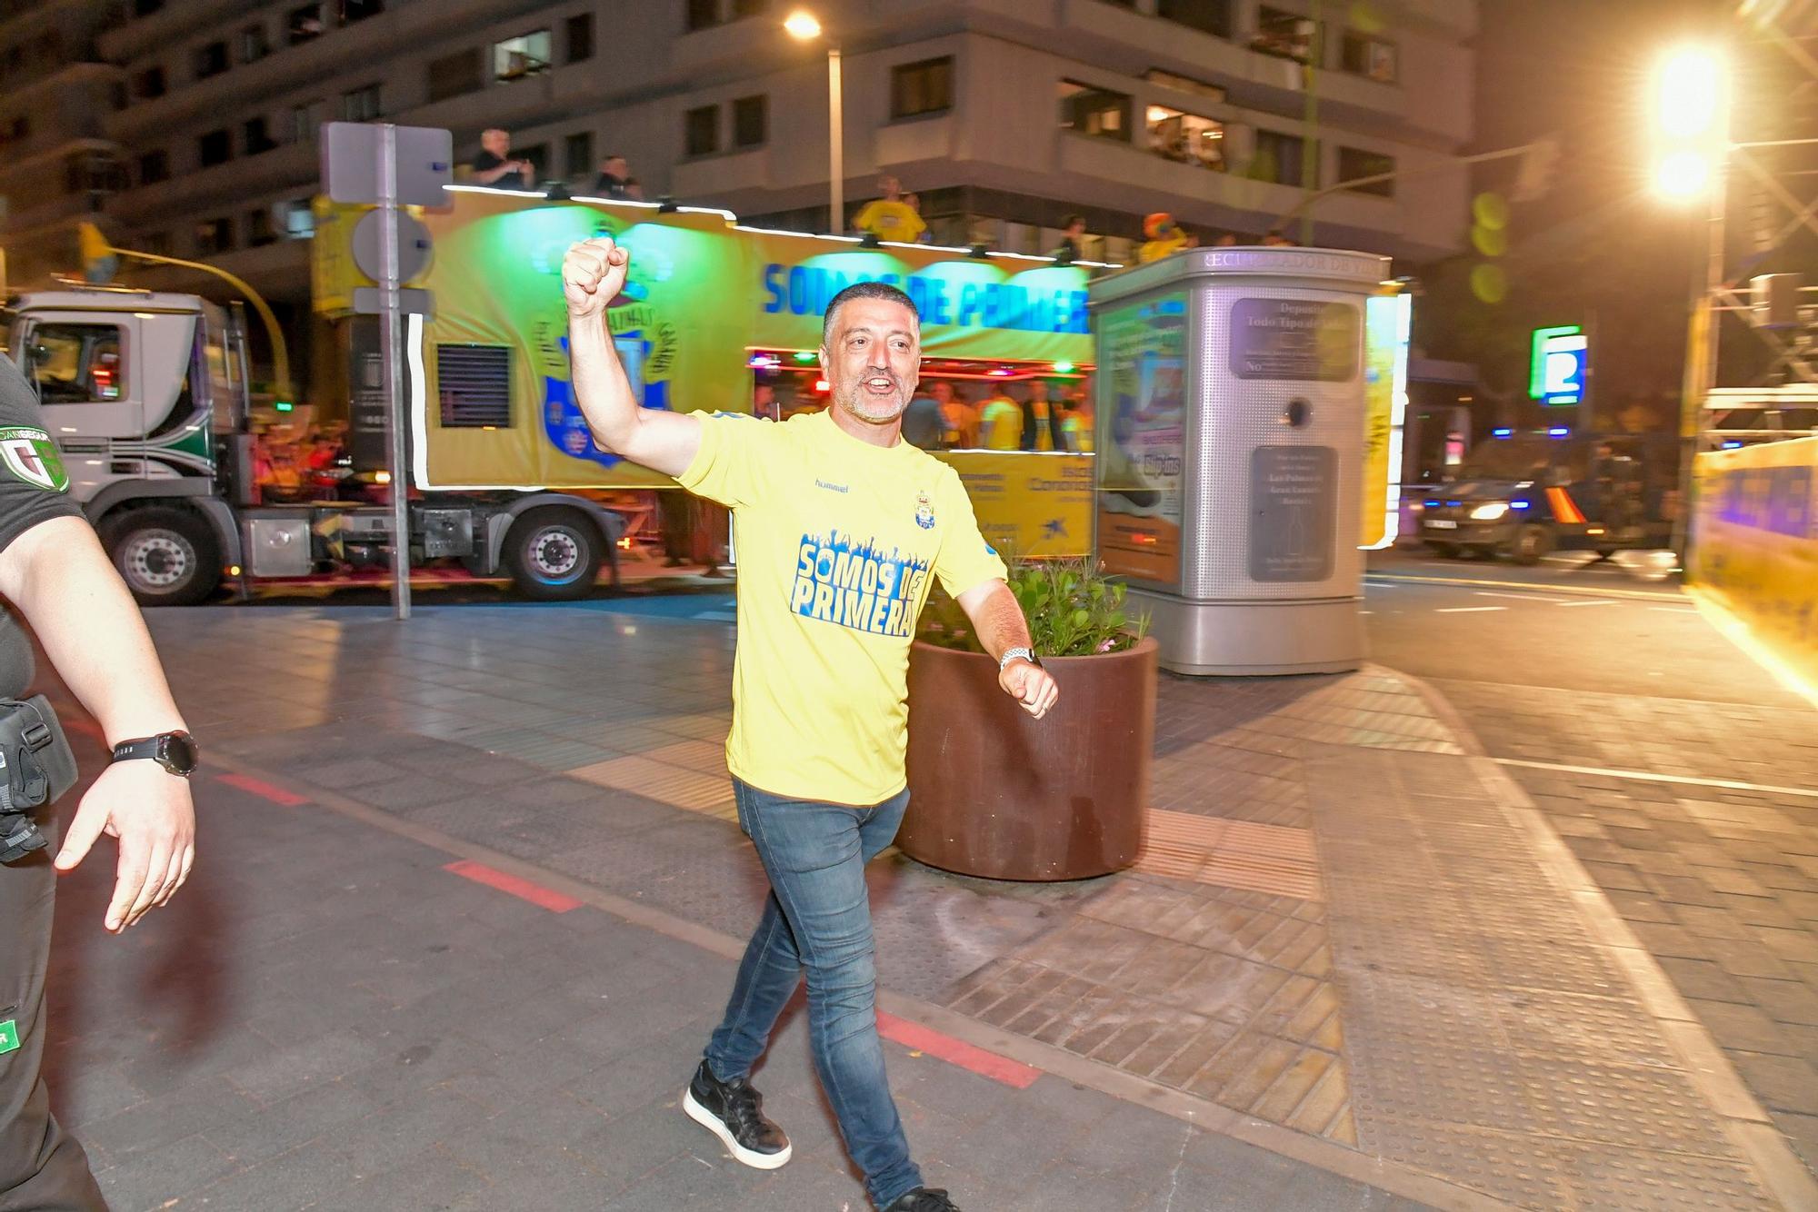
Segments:
[[[1387,669],[1376,665],[1374,669]],[[1662,1038],[1680,1058],[1693,1088],[1723,1121],[1723,1132],[1754,1167],[1754,1176],[1783,1208],[1818,1208],[1818,1177],[1805,1168],[1787,1137],[1774,1127],[1762,1103],[1743,1085],[1716,1038],[1680,998],[1654,954],[1629,929],[1603,889],[1583,869],[1573,849],[1560,839],[1547,814],[1534,807],[1522,785],[1483,749],[1476,732],[1451,701],[1422,678],[1398,669],[1387,672],[1403,680],[1425,700],[1440,723],[1453,730],[1465,750],[1473,772],[1496,796],[1509,821],[1527,834],[1542,869],[1571,896],[1580,919],[1589,927],[1611,961],[1627,978],[1642,1007],[1654,1018]]]

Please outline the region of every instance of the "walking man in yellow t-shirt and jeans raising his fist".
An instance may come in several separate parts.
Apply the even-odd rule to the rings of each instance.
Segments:
[[[809,1043],[840,1134],[885,1212],[956,1212],[922,1187],[884,1072],[865,863],[896,836],[909,792],[909,640],[931,574],[998,661],[998,685],[1042,718],[1058,696],[1031,652],[958,474],[902,442],[922,367],[909,296],[862,282],[827,303],[825,412],[784,423],[642,409],[605,305],[629,254],[611,238],[562,263],[574,398],[607,451],[674,476],[738,520],[738,654],[727,767],[738,823],[771,896],[725,1019],[682,1096],[736,1161],[776,1168],[789,1139],[747,1074],[807,972]]]

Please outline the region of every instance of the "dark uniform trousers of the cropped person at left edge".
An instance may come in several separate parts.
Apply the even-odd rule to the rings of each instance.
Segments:
[[[18,1048],[0,1054],[0,1212],[107,1212],[87,1154],[51,1116],[44,1076],[44,970],[56,905],[56,836],[0,865],[0,1021],[18,1027]]]

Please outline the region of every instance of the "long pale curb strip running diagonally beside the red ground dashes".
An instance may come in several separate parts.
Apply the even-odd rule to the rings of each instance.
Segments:
[[[573,876],[565,876],[562,872],[538,867],[536,863],[465,841],[440,829],[407,821],[385,812],[384,809],[360,803],[351,796],[315,787],[304,780],[273,774],[231,754],[211,754],[209,763],[220,770],[238,776],[238,780],[253,780],[275,790],[282,789],[293,798],[300,792],[307,792],[307,803],[315,803],[329,809],[331,812],[338,812],[340,816],[371,825],[373,829],[405,838],[431,850],[442,850],[454,859],[484,863],[507,878],[533,881],[556,896],[582,901],[629,925],[644,927],[645,930],[662,934],[664,938],[700,947],[702,950],[713,952],[722,959],[736,963],[745,952],[744,939],[687,921],[685,918],[678,918],[653,905],[644,905],[624,896],[605,892],[604,889],[596,889],[594,885]],[[1518,1205],[1503,1203],[1493,1196],[1460,1187],[1434,1174],[1403,1167],[1394,1161],[1385,1161],[1382,1157],[1373,1157],[1322,1137],[1294,1132],[1293,1128],[1253,1119],[1220,1103],[1100,1065],[1098,1061],[1074,1056],[1073,1052],[1040,1043],[1036,1039],[985,1027],[984,1023],[965,1018],[964,1014],[956,1014],[945,1007],[938,1007],[907,994],[893,992],[882,985],[878,987],[878,1008],[885,1014],[896,1016],[898,1019],[951,1036],[964,1045],[985,1048],[1013,1061],[1022,1061],[1024,1065],[1038,1068],[1060,1081],[1098,1090],[1100,1094],[1109,1094],[1111,1098],[1125,1103],[1147,1107],[1149,1110],[1162,1112],[1173,1119],[1180,1119],[1182,1123],[1207,1132],[1216,1132],[1220,1136],[1244,1141],[1245,1145],[1254,1145],[1256,1148],[1264,1148],[1293,1161],[1302,1161],[1354,1183],[1382,1188],[1391,1196],[1414,1199],[1445,1212],[1518,1212]]]

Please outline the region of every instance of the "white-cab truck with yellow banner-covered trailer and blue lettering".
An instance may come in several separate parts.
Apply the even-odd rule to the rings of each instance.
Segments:
[[[476,576],[505,574],[540,600],[585,596],[602,569],[616,581],[636,516],[614,509],[613,492],[680,489],[600,451],[574,403],[560,265],[569,243],[589,236],[633,253],[609,320],[644,407],[749,412],[754,374],[824,392],[822,313],[860,280],[893,282],[916,302],[927,374],[1000,383],[1091,371],[1091,263],[762,231],[718,209],[449,187],[447,205],[415,214],[433,254],[405,285],[427,291],[433,311],[405,318],[409,471],[395,485],[376,322],[353,305],[371,285],[351,256],[362,213],[316,204],[313,307],[333,334],[338,382],[315,394],[345,407],[369,500],[262,502],[235,313],[125,287],[7,300],[7,347],[40,392],[71,492],[140,603],[205,601],[224,578],[244,592],[389,567],[391,491],[409,494],[413,565],[449,560]],[[1089,454],[1031,454],[1051,462],[1020,476],[1002,467],[1020,456],[971,458],[987,525],[994,489],[1011,518],[1000,531],[1027,531],[1025,549],[1089,549]],[[1034,487],[1005,492],[1011,480]],[[1031,491],[1047,496],[1031,505]]]

